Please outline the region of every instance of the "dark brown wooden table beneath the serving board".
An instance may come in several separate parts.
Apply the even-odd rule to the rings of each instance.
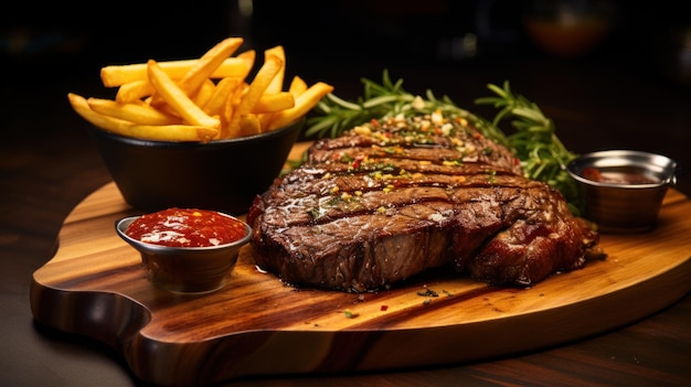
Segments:
[[[332,79],[337,89],[359,90],[359,76],[352,69],[340,69],[343,73],[338,67],[313,68],[310,74]],[[540,103],[545,114],[556,120],[566,144],[578,152],[632,148],[691,163],[688,89],[631,68],[609,63],[575,65],[527,58],[511,66],[488,64],[467,72],[394,71],[406,79],[410,89],[430,87],[439,94],[450,94],[459,104],[486,95],[486,83],[512,79],[515,90]],[[67,90],[97,93],[100,85],[91,76],[86,80],[81,76],[65,77],[42,85],[26,88],[22,83],[11,84],[1,95],[2,101],[13,105],[2,108],[8,126],[2,129],[0,142],[0,384],[142,385],[107,345],[46,329],[32,320],[31,275],[55,251],[56,236],[67,214],[109,182],[84,123],[70,110],[65,97]],[[678,189],[691,194],[688,176],[681,176]],[[506,357],[355,375],[272,376],[228,385],[688,385],[690,364],[691,295],[687,294],[669,308],[625,326]]]

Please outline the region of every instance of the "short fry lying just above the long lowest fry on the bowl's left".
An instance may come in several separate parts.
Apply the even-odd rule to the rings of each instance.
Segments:
[[[88,107],[102,115],[139,125],[178,125],[180,119],[143,104],[118,104],[115,100],[91,97]]]

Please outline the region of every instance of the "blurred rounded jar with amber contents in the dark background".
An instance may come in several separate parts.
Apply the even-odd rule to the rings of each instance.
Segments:
[[[607,0],[532,0],[523,24],[544,52],[574,57],[593,50],[608,34],[613,7]]]

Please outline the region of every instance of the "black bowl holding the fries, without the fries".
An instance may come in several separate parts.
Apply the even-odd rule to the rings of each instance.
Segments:
[[[132,207],[198,207],[237,215],[279,175],[304,122],[208,143],[141,140],[96,127],[91,136]]]

